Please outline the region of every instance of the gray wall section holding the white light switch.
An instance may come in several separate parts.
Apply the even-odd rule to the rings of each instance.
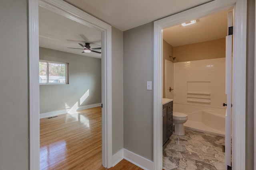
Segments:
[[[153,160],[153,22],[124,31],[124,148]],[[153,87],[152,87],[153,88]]]

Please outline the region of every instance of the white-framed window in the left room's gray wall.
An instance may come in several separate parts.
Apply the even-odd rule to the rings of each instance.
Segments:
[[[68,63],[39,61],[40,84],[68,84]]]

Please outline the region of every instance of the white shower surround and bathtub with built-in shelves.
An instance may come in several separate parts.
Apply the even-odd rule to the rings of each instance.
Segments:
[[[174,111],[188,115],[185,127],[225,134],[225,58],[174,63],[173,91]]]

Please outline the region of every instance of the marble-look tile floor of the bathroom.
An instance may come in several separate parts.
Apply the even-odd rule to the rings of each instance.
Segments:
[[[185,129],[186,135],[172,135],[163,146],[164,170],[224,170],[225,138]]]

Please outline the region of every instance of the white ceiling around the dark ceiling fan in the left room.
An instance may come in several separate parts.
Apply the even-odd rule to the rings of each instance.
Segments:
[[[101,58],[98,53],[82,53],[81,49],[68,49],[82,48],[78,43],[85,42],[93,43],[90,44],[91,48],[101,47],[101,32],[39,7],[40,47]]]

